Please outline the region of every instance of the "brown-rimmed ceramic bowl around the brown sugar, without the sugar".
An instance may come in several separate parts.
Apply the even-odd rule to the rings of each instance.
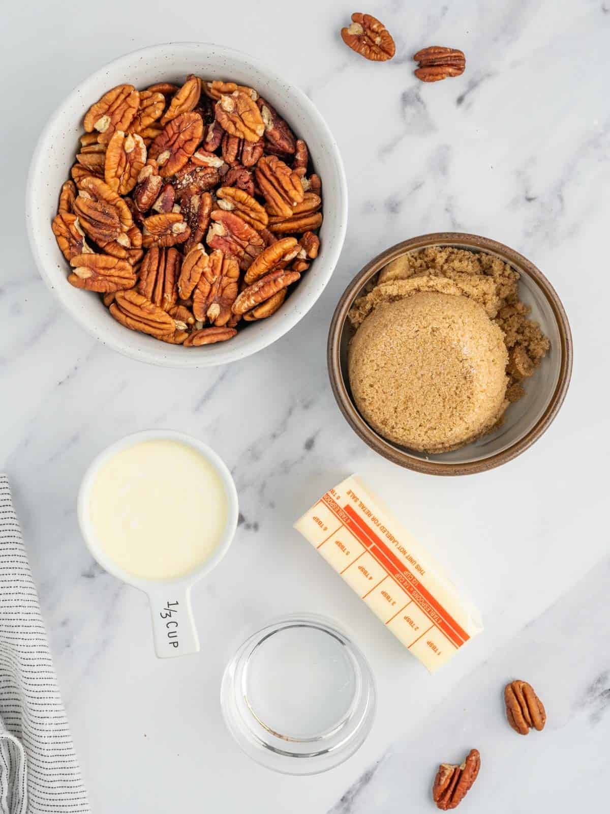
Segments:
[[[449,453],[419,453],[384,439],[359,414],[351,396],[347,348],[354,334],[347,312],[366,284],[390,260],[428,246],[453,246],[499,257],[521,274],[521,300],[551,340],[551,350],[534,376],[525,383],[526,394],[509,406],[502,427]],[[568,317],[555,289],[533,263],[495,240],[460,232],[424,234],[397,243],[364,266],[343,292],[330,324],[328,344],[330,383],[339,409],[351,428],[371,449],[407,469],[427,475],[472,475],[512,461],[549,427],[563,404],[572,374],[572,335]]]

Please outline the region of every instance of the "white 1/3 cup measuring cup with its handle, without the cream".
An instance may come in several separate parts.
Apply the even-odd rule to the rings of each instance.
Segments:
[[[227,520],[219,544],[213,554],[204,560],[200,566],[172,580],[143,580],[117,566],[99,544],[89,516],[91,488],[100,468],[123,449],[150,440],[178,441],[196,449],[216,470],[227,499]],[[197,653],[199,640],[197,628],[194,624],[193,611],[190,606],[190,591],[193,585],[198,580],[201,580],[203,576],[209,574],[218,565],[224,554],[227,553],[237,528],[237,489],[224,461],[207,444],[203,444],[197,438],[185,435],[182,432],[146,430],[133,433],[133,435],[126,435],[116,441],[115,444],[111,444],[107,449],[104,449],[102,453],[99,453],[89,465],[78,493],[77,513],[82,536],[91,555],[99,565],[118,580],[123,580],[123,582],[133,585],[134,588],[138,588],[147,594],[152,615],[155,653],[159,659]]]

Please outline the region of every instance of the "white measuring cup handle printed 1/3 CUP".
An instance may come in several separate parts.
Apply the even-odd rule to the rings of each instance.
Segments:
[[[171,659],[198,653],[199,639],[190,608],[190,585],[159,586],[148,593],[148,599],[157,657]]]

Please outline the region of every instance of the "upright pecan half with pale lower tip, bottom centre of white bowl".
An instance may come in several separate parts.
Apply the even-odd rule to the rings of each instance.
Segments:
[[[224,326],[237,298],[239,266],[232,255],[216,250],[210,255],[193,293],[193,314],[201,322]]]

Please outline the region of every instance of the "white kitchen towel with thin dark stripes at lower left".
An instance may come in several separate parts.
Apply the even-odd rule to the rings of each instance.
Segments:
[[[0,814],[85,814],[28,555],[0,475]]]

